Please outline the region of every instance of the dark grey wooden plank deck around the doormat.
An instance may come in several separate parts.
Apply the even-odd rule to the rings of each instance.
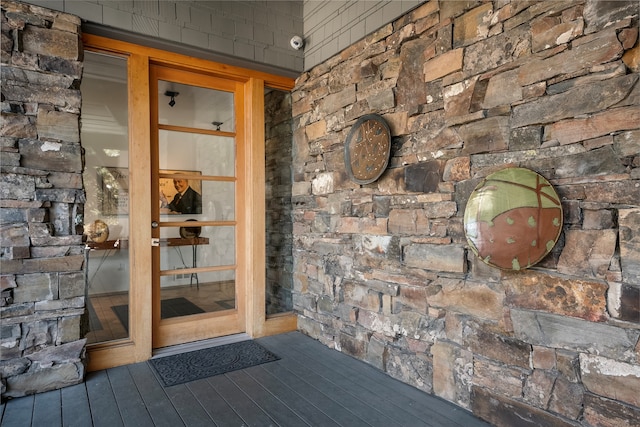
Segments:
[[[257,340],[281,359],[172,387],[144,363],[9,400],[10,426],[489,426],[366,363],[292,332]]]

